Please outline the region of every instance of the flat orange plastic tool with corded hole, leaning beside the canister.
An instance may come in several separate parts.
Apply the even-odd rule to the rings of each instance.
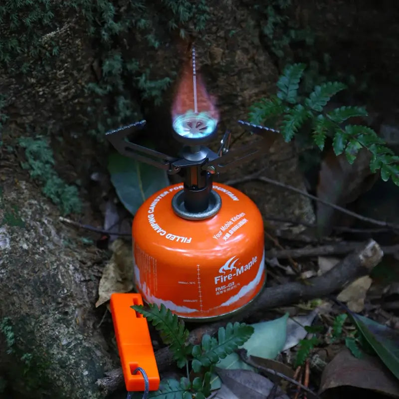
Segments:
[[[126,390],[145,390],[144,377],[141,373],[133,374],[140,367],[147,374],[149,390],[157,391],[160,378],[147,319],[132,309],[132,305],[143,305],[140,294],[111,295],[112,321]]]

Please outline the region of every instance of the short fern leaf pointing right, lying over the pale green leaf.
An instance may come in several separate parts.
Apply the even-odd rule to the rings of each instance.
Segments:
[[[194,346],[192,355],[202,366],[208,367],[234,352],[250,338],[252,333],[252,326],[238,322],[234,325],[228,323],[226,328],[219,328],[217,340],[209,335],[204,335],[201,345]]]

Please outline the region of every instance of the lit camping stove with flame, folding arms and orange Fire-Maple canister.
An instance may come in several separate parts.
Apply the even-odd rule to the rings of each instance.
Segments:
[[[184,183],[148,198],[134,216],[134,283],[147,303],[163,303],[179,317],[217,319],[242,310],[265,282],[263,220],[254,202],[213,177],[262,155],[273,129],[238,121],[255,136],[229,150],[226,132],[217,153],[205,147],[217,134],[218,113],[196,72],[195,49],[183,71],[172,110],[179,157],[139,146],[126,136],[140,121],[107,133],[120,154],[179,174]]]

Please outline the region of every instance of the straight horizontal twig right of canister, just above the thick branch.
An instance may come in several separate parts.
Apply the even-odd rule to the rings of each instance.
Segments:
[[[276,250],[271,249],[267,253],[268,258],[290,259],[300,257],[326,256],[326,255],[346,255],[354,250],[361,248],[362,242],[343,241],[329,245],[317,247],[293,248]],[[386,255],[399,252],[399,244],[382,247]]]

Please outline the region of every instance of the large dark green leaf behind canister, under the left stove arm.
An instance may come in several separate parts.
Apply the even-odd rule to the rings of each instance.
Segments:
[[[169,184],[165,171],[118,153],[109,156],[108,171],[119,199],[133,215],[147,198]]]

